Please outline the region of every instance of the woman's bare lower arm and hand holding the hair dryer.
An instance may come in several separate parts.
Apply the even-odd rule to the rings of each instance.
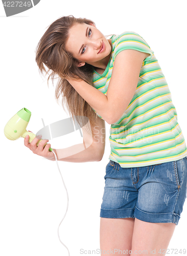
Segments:
[[[87,127],[90,130],[92,128],[92,133],[87,133],[86,127],[82,127],[83,143],[57,150],[53,148],[58,161],[81,163],[100,161],[102,159],[105,146],[105,121],[98,117],[94,127],[90,126],[90,122],[88,122]],[[36,143],[39,139],[40,138],[35,137],[34,140],[29,143],[29,138],[25,137],[24,145],[29,147],[34,154],[55,161],[54,153],[48,151],[50,144],[45,145],[47,140],[42,140],[37,146]]]

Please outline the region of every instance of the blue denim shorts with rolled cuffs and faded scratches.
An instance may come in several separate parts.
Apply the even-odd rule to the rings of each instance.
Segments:
[[[161,164],[122,168],[106,165],[101,218],[137,218],[178,225],[186,198],[187,157]]]

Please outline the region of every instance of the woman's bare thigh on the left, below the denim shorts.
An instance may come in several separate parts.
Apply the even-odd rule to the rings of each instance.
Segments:
[[[100,218],[100,250],[101,255],[104,255],[102,251],[107,252],[112,255],[111,250],[130,250],[132,242],[132,233],[135,219],[125,218],[125,219],[109,219]],[[105,255],[108,255],[105,252]],[[127,253],[128,254],[128,253]],[[115,255],[121,255],[115,251]]]

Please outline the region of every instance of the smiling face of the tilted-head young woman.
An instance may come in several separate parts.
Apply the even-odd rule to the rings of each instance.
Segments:
[[[111,45],[105,36],[93,25],[76,23],[69,29],[66,50],[79,61],[78,67],[85,62],[97,67],[110,59]]]

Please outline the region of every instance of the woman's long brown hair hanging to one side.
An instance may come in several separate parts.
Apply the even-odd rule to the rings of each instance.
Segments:
[[[43,73],[48,75],[47,86],[50,78],[53,86],[54,80],[58,78],[55,95],[57,100],[61,95],[64,96],[62,97],[63,109],[66,108],[72,118],[75,116],[81,127],[85,123],[84,117],[88,117],[93,127],[97,119],[96,113],[66,80],[68,77],[74,79],[78,76],[93,86],[92,66],[85,63],[83,67],[78,68],[77,59],[65,50],[69,29],[75,23],[94,24],[90,19],[75,18],[72,15],[60,17],[48,27],[40,39],[36,48],[36,62],[39,72],[42,75]]]

